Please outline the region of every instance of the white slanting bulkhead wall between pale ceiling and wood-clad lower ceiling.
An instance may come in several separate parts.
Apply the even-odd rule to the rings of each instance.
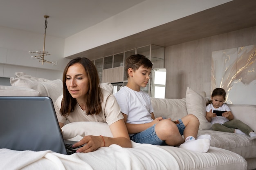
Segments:
[[[64,57],[216,7],[231,0],[146,0],[65,39]]]

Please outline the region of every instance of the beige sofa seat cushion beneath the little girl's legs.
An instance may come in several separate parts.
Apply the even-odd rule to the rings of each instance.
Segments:
[[[240,135],[215,130],[199,130],[198,135],[211,135],[211,146],[230,150],[245,159],[256,157],[256,140],[247,135]]]

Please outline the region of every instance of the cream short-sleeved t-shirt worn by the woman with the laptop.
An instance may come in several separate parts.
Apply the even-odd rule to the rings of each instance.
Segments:
[[[108,126],[109,126],[120,119],[124,119],[124,116],[121,113],[120,107],[117,103],[115,96],[104,89],[101,89],[101,90],[103,93],[103,101],[101,102],[102,111],[97,115],[96,114],[87,115],[85,110],[82,110],[79,104],[76,104],[74,112],[70,113],[70,115],[68,115],[67,117],[62,116],[60,114],[60,108],[61,108],[61,100],[63,98],[63,95],[58,97],[58,99],[54,103],[58,121],[61,123],[65,123],[67,119],[70,122],[99,121],[99,122],[108,123]]]

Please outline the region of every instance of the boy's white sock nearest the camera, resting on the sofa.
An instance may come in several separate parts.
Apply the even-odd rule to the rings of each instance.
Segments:
[[[209,139],[191,139],[181,144],[180,148],[205,153],[210,148],[210,142]]]

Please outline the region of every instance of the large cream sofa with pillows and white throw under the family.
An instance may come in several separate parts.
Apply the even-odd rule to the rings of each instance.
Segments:
[[[43,81],[23,73],[16,73],[16,77],[11,77],[10,81],[12,86],[0,86],[0,96],[48,95],[54,101],[55,97],[62,93],[61,80]],[[101,87],[112,90],[112,85],[108,83],[101,84]],[[210,130],[211,124],[204,117],[206,97],[188,88],[184,99],[151,98],[151,100],[155,117],[178,119],[187,114],[196,115],[200,120],[198,135],[211,135],[209,151],[198,153],[178,147],[132,142],[132,148],[112,145],[87,154],[61,155],[49,151],[44,154],[22,151],[22,157],[26,159],[13,164],[12,161],[20,157],[20,151],[0,149],[0,164],[8,169],[17,167],[18,169],[56,169],[59,163],[64,169],[79,169],[83,165],[83,168],[88,166],[88,169],[95,170],[252,170],[256,168],[256,140],[252,141],[245,135]],[[229,105],[229,107],[236,119],[256,129],[256,105]],[[81,139],[79,137],[84,135],[112,136],[108,125],[99,122],[74,122],[63,127],[64,139],[73,137],[73,139]],[[49,154],[54,155],[54,160]],[[36,160],[34,160],[35,155]]]

